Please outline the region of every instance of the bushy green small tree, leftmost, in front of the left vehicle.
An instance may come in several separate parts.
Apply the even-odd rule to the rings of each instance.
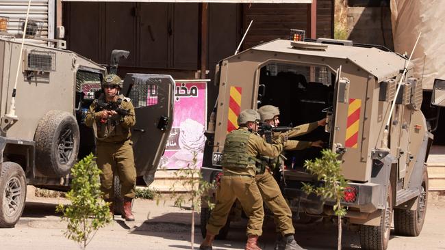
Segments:
[[[112,221],[109,204],[102,198],[100,173],[92,154],[74,165],[71,191],[66,195],[71,204],[59,204],[56,209],[63,212],[62,221],[68,221],[64,235],[79,243],[81,249],[86,249],[100,227]]]

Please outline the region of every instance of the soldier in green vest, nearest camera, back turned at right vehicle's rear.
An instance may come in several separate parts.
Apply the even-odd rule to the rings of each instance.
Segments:
[[[227,135],[224,144],[223,177],[216,190],[216,206],[207,223],[207,235],[199,249],[211,250],[212,242],[227,221],[233,202],[238,199],[249,217],[247,224],[247,250],[261,250],[257,246],[262,234],[264,219],[263,201],[255,182],[259,156],[277,157],[283,149],[283,139],[279,137],[274,144],[264,141],[255,132],[258,128],[259,114],[246,109],[238,116],[240,128]]]

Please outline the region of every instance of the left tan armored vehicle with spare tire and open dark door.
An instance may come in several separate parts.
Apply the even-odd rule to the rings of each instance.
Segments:
[[[77,158],[94,152],[94,134],[83,120],[107,69],[62,49],[63,41],[46,41],[59,48],[34,41],[27,39],[21,51],[21,39],[0,33],[0,227],[13,227],[21,217],[27,184],[67,190]],[[153,180],[173,120],[174,81],[127,74],[123,85],[136,112],[137,175]],[[116,190],[118,183],[115,178]]]

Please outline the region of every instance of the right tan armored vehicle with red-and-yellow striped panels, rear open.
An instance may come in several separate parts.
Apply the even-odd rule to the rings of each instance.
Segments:
[[[296,139],[323,140],[325,148],[340,154],[348,180],[345,221],[359,225],[361,248],[387,248],[393,214],[395,234],[418,236],[427,210],[425,162],[433,135],[420,111],[422,81],[412,77],[407,62],[381,48],[329,39],[273,40],[223,59],[216,70],[219,95],[207,131],[204,178],[220,177],[225,136],[238,127],[243,109],[275,105],[286,125],[327,117],[325,128]],[[301,189],[302,182],[322,184],[303,167],[320,150],[285,152],[286,169],[277,176],[296,219],[334,215],[332,201]],[[203,208],[201,224],[208,214]],[[231,213],[220,238],[227,235],[233,214],[237,212]]]

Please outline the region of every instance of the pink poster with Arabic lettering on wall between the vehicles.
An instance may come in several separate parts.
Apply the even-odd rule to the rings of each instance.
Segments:
[[[181,169],[201,167],[207,126],[207,82],[210,80],[175,80],[175,108],[172,130],[160,166]]]

